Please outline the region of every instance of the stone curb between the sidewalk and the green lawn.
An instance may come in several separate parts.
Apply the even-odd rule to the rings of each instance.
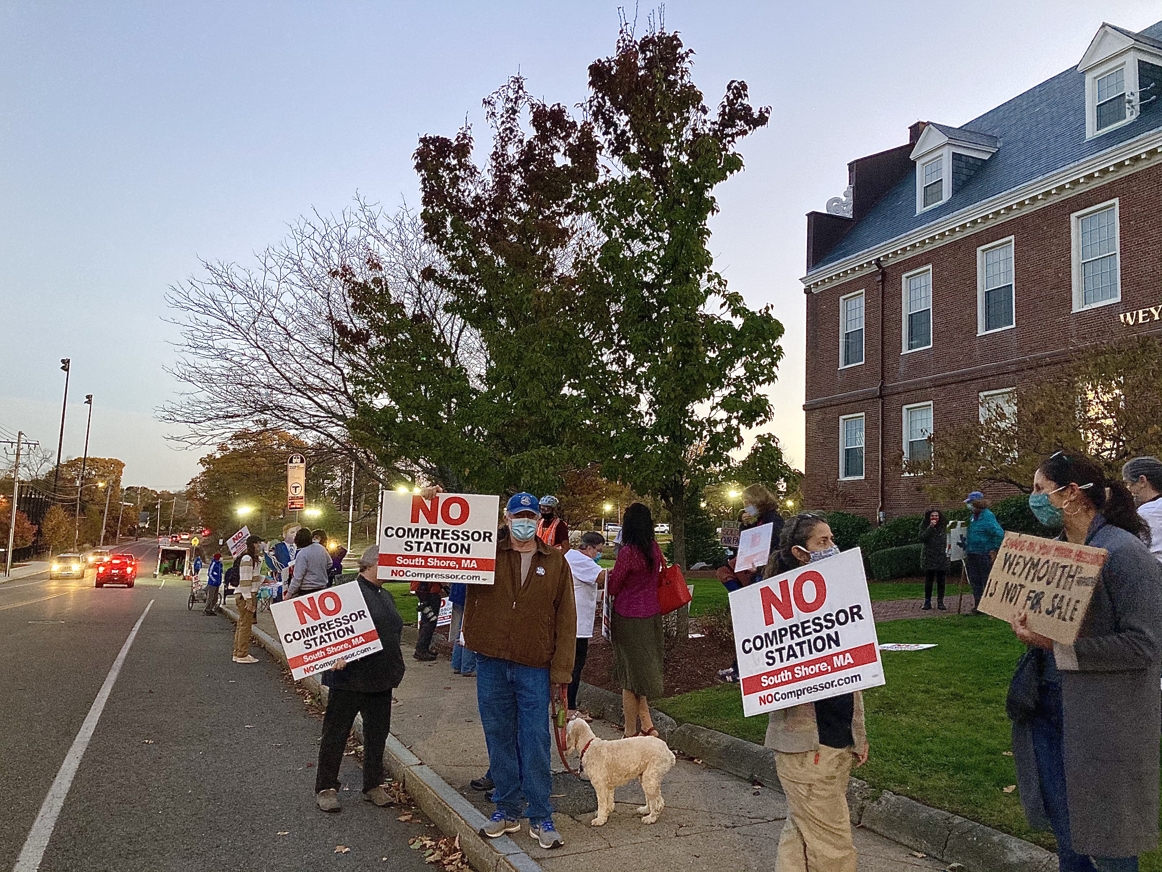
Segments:
[[[607,721],[622,722],[622,696],[612,691],[582,682],[578,706]],[[781,789],[772,749],[693,723],[679,726],[661,712],[651,709],[651,714],[658,731],[675,751],[732,775]],[[853,825],[945,863],[962,864],[966,872],[1056,872],[1057,869],[1057,855],[1043,848],[906,796],[876,791],[858,778],[847,782],[847,805]]]

